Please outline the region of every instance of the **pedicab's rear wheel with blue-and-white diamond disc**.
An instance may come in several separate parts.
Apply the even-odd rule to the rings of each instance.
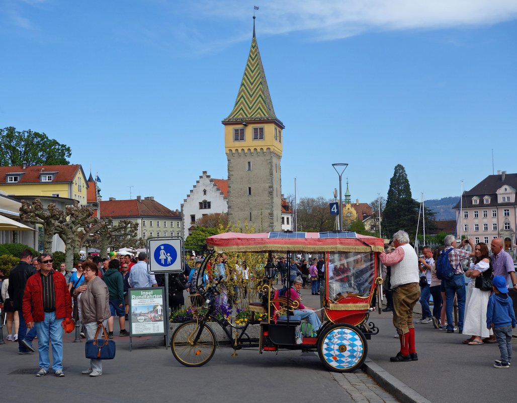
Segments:
[[[366,338],[354,325],[339,323],[323,330],[318,354],[323,364],[336,372],[351,372],[364,363],[368,353]]]

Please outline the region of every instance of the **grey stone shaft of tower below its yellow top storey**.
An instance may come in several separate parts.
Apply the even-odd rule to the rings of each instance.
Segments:
[[[228,218],[255,232],[281,231],[280,159],[269,149],[231,151],[228,159]],[[251,170],[248,170],[251,162]],[[251,195],[249,195],[251,188]],[[251,213],[251,219],[250,219]]]

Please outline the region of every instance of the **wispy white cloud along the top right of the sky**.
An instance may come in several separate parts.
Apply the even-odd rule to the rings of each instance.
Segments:
[[[249,20],[252,12],[244,14],[239,0],[193,3],[193,12],[219,21]],[[316,40],[372,30],[440,29],[517,18],[515,0],[263,0],[259,7],[256,15],[262,35],[305,31]]]

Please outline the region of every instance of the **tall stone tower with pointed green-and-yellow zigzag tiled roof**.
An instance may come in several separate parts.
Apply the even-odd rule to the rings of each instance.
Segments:
[[[284,125],[273,109],[253,37],[235,106],[222,124],[228,159],[228,216],[255,232],[281,231],[280,159]]]

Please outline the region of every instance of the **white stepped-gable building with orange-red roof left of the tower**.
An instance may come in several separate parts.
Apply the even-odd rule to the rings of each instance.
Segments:
[[[183,236],[186,238],[195,221],[205,215],[228,212],[228,180],[214,179],[203,171],[190,194],[181,204]]]

